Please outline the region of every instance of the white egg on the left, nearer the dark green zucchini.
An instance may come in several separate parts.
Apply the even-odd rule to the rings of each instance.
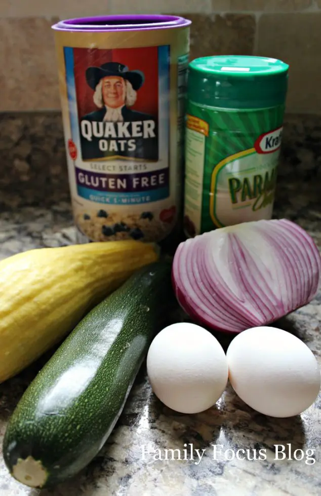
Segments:
[[[213,406],[228,379],[226,355],[206,329],[180,322],[165,327],[147,354],[147,374],[154,394],[181,413]]]

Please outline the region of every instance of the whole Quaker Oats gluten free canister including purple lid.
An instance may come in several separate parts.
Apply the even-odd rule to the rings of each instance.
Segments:
[[[190,24],[117,15],[53,26],[79,243],[177,232]]]

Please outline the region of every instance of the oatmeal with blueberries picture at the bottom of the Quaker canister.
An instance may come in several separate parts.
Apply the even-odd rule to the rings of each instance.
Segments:
[[[105,209],[82,212],[78,214],[76,223],[91,241],[160,241],[172,227],[172,222],[160,220],[159,215],[154,212],[127,212],[122,216],[119,211],[108,212]]]

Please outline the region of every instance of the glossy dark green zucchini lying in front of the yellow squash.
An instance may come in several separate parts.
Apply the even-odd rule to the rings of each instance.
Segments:
[[[3,454],[13,477],[30,487],[48,487],[91,462],[115,426],[175,301],[171,263],[155,262],[74,328],[9,421]]]

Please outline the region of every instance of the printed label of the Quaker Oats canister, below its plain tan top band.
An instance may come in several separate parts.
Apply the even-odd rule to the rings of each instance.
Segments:
[[[171,128],[171,88],[185,94],[188,55],[171,46],[64,46],[68,170],[80,242],[160,241],[177,220],[184,105]],[[173,91],[173,90],[172,90]],[[172,132],[171,132],[172,130]],[[174,142],[175,142],[174,141]]]

